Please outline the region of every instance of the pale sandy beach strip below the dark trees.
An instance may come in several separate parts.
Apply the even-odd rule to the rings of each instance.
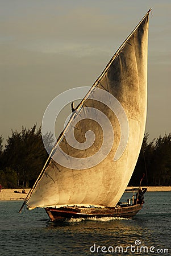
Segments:
[[[127,187],[133,188],[133,187]],[[161,186],[161,187],[146,187],[147,192],[166,192],[171,191],[171,186]],[[18,191],[19,193],[15,193]],[[12,201],[12,200],[24,200],[30,191],[30,188],[25,189],[26,194],[22,193],[22,188],[3,188],[0,192],[0,201]]]

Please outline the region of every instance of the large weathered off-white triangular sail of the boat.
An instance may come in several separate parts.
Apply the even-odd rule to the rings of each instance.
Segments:
[[[93,130],[95,134],[93,145],[85,150],[79,150],[74,148],[74,145],[70,146],[64,135],[56,147],[55,158],[61,157],[62,150],[73,158],[84,158],[89,161],[90,156],[98,152],[104,135],[96,122],[98,117],[97,120],[89,119],[92,109],[103,112],[112,125],[114,134],[107,133],[109,141],[112,141],[114,135],[109,154],[102,162],[87,168],[83,166],[82,170],[77,170],[74,166],[73,168],[62,166],[51,159],[26,199],[25,203],[28,207],[92,204],[115,207],[118,203],[134,171],[145,130],[148,16],[149,11],[112,57],[102,75],[95,81],[88,96],[82,101],[81,108],[78,108],[78,113],[85,115],[87,119],[74,126],[76,140],[84,143],[86,131]],[[93,97],[98,97],[97,88],[115,96],[122,105],[128,120],[128,142],[122,156],[115,161],[114,156],[122,137],[120,124],[109,106],[93,100]],[[77,117],[70,122],[65,134],[73,127],[76,120]],[[104,125],[106,125],[105,120],[101,120]],[[70,160],[65,158],[65,161]]]

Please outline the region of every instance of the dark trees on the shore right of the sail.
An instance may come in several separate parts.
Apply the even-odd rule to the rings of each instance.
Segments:
[[[171,185],[171,134],[161,136],[148,143],[149,134],[144,135],[143,144],[130,185],[138,185],[143,173],[142,185]]]

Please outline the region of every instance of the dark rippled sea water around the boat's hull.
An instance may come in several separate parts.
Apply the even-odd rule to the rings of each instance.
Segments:
[[[19,214],[21,205],[0,201],[0,255],[171,255],[171,192],[145,193],[132,219],[53,223],[44,209]]]

